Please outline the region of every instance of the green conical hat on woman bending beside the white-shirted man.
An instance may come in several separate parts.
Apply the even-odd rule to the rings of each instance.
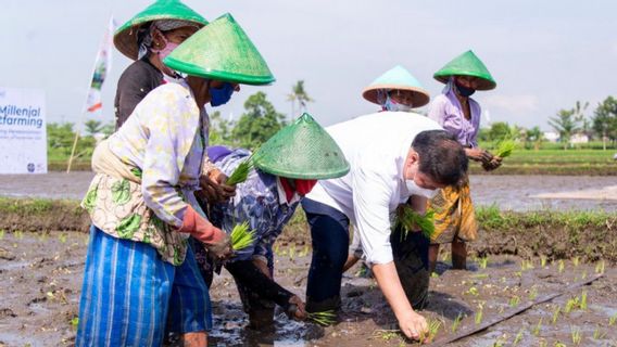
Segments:
[[[339,145],[307,113],[262,144],[253,158],[262,171],[286,178],[329,179],[350,169]]]

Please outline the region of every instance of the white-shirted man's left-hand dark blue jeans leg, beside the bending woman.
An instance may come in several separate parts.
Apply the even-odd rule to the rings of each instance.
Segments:
[[[349,252],[349,218],[330,206],[308,198],[302,200],[302,208],[306,213],[313,240],[306,310],[337,309]]]

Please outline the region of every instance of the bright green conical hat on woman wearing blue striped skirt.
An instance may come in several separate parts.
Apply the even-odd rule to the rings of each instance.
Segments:
[[[163,63],[192,76],[235,83],[275,81],[251,39],[228,13],[189,37]]]

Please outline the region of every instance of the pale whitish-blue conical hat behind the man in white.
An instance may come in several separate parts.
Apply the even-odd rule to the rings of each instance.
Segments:
[[[430,94],[423,88],[420,82],[403,66],[396,65],[379,76],[362,91],[362,97],[379,105],[377,93],[380,89],[406,90],[412,92],[413,107],[421,107],[430,101]]]

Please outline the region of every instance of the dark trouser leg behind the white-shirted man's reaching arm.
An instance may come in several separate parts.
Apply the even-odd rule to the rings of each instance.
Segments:
[[[396,229],[390,235],[390,243],[405,295],[415,310],[421,310],[428,304],[430,242],[421,232],[408,232],[405,236],[401,229]]]

